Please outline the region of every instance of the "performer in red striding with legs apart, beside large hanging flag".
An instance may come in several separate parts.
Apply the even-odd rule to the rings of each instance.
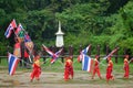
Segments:
[[[92,79],[94,78],[95,76],[95,73],[98,74],[99,78],[101,79],[101,74],[100,74],[100,67],[99,67],[99,55],[95,56],[94,58],[94,68],[93,68],[93,75],[92,75]]]

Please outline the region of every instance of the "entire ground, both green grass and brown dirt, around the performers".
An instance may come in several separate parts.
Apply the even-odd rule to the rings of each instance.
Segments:
[[[50,64],[50,59],[47,59],[47,63],[41,65],[42,74],[40,81],[34,80],[30,82],[30,73],[32,69],[18,66],[16,74],[9,76],[8,62],[3,58],[0,64],[0,88],[133,88],[133,64],[130,63],[130,78],[124,79],[122,61],[123,58],[119,58],[119,63],[114,63],[113,75],[115,80],[111,80],[109,84],[105,80],[106,61],[101,59],[102,64],[100,64],[103,79],[99,79],[96,75],[94,79],[91,79],[91,73],[81,70],[81,63],[78,63],[76,58],[73,61],[74,79],[70,79],[69,81],[63,80],[64,64],[60,59],[52,65]]]

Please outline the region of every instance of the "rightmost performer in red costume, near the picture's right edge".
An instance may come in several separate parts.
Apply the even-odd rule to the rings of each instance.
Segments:
[[[129,66],[129,55],[125,55],[124,58],[124,78],[129,78],[130,66]]]

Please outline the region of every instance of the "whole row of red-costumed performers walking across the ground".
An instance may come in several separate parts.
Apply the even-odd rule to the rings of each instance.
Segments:
[[[100,73],[100,67],[99,67],[99,56],[96,55],[94,58],[94,66],[93,66],[93,73],[92,73],[92,79],[94,78],[95,74],[98,74],[98,76],[100,77],[100,79],[102,79],[101,73]],[[40,79],[40,75],[41,75],[41,66],[40,66],[40,56],[35,55],[34,56],[34,62],[33,62],[33,70],[30,75],[31,77],[31,81],[33,80],[33,78],[35,78],[37,80]],[[124,58],[124,78],[129,78],[129,55],[125,55]],[[109,82],[109,80],[114,80],[114,76],[112,75],[113,72],[113,62],[111,59],[111,57],[108,57],[108,67],[106,67],[106,82]],[[69,79],[73,79],[74,77],[74,72],[73,72],[73,62],[71,59],[71,57],[65,57],[65,63],[64,63],[64,80],[69,80]]]

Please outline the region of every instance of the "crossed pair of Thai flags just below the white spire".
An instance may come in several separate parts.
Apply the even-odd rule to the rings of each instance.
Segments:
[[[51,57],[52,57],[51,64],[53,64],[58,59],[58,57],[60,56],[60,54],[63,50],[63,48],[61,48],[57,53],[53,53],[47,46],[44,46],[44,45],[42,45],[42,46],[43,46],[44,51],[48,52],[51,55]]]

